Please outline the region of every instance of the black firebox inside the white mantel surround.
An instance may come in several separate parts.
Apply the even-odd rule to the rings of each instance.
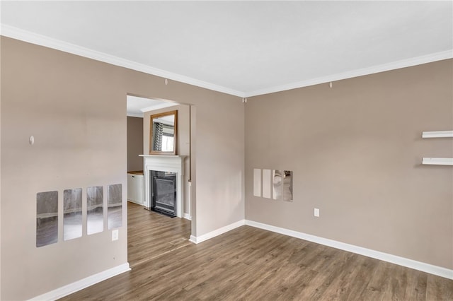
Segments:
[[[149,171],[151,210],[175,217],[177,208],[176,172]]]

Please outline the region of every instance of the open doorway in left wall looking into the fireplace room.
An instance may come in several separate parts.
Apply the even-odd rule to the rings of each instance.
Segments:
[[[159,190],[164,199],[159,201],[158,210],[150,211],[152,203],[151,189],[146,189],[147,177],[144,155],[150,153],[152,114],[178,111],[178,132],[176,155],[184,157],[180,179],[183,201],[181,218],[170,218],[176,208],[171,208],[169,196],[175,194],[169,189],[168,179],[158,179]],[[191,106],[170,100],[127,95],[127,259],[133,268],[188,244],[192,228],[191,216]],[[161,155],[166,156],[168,155]],[[159,177],[160,178],[160,177]],[[168,185],[167,185],[168,184]],[[164,190],[163,190],[164,189]],[[172,190],[172,191],[171,191]],[[160,192],[159,192],[160,191]],[[170,192],[168,192],[170,191]],[[147,209],[147,210],[144,210]],[[163,215],[161,213],[165,213]]]

